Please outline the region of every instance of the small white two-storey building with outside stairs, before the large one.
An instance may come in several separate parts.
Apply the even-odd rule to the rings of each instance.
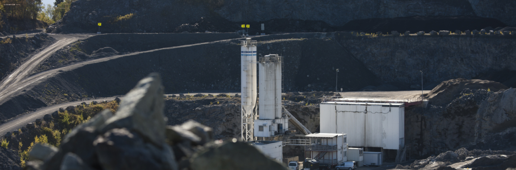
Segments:
[[[304,137],[310,140],[310,144],[304,146],[305,158],[331,166],[348,160],[346,134],[312,133]]]

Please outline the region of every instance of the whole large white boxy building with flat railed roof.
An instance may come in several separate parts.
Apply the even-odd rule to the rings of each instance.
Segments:
[[[383,156],[395,152],[395,161],[399,162],[405,159],[409,148],[405,145],[405,107],[424,104],[421,98],[411,101],[327,97],[320,104],[320,132],[346,133],[350,147],[378,151]],[[365,164],[367,158],[363,159]]]

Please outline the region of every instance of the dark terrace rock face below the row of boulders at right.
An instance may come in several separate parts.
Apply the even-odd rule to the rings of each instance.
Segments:
[[[420,70],[425,84],[516,70],[516,41],[510,36],[335,36],[384,82],[418,84]]]

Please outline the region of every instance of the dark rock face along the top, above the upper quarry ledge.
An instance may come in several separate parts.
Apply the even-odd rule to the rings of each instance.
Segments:
[[[342,26],[358,19],[478,15],[514,25],[516,21],[511,17],[516,10],[513,10],[513,4],[514,2],[504,0],[79,0],[72,3],[70,11],[63,19],[47,31],[96,31],[97,23],[103,23],[101,32],[173,32],[183,24],[198,21],[206,16],[222,16],[231,22],[292,19],[321,21],[331,26]],[[234,30],[238,30],[238,24],[233,26]]]

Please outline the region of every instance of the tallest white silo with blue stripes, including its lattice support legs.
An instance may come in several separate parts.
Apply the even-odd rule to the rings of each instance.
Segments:
[[[253,140],[253,120],[256,116],[256,41],[241,41],[241,135],[242,140]]]

